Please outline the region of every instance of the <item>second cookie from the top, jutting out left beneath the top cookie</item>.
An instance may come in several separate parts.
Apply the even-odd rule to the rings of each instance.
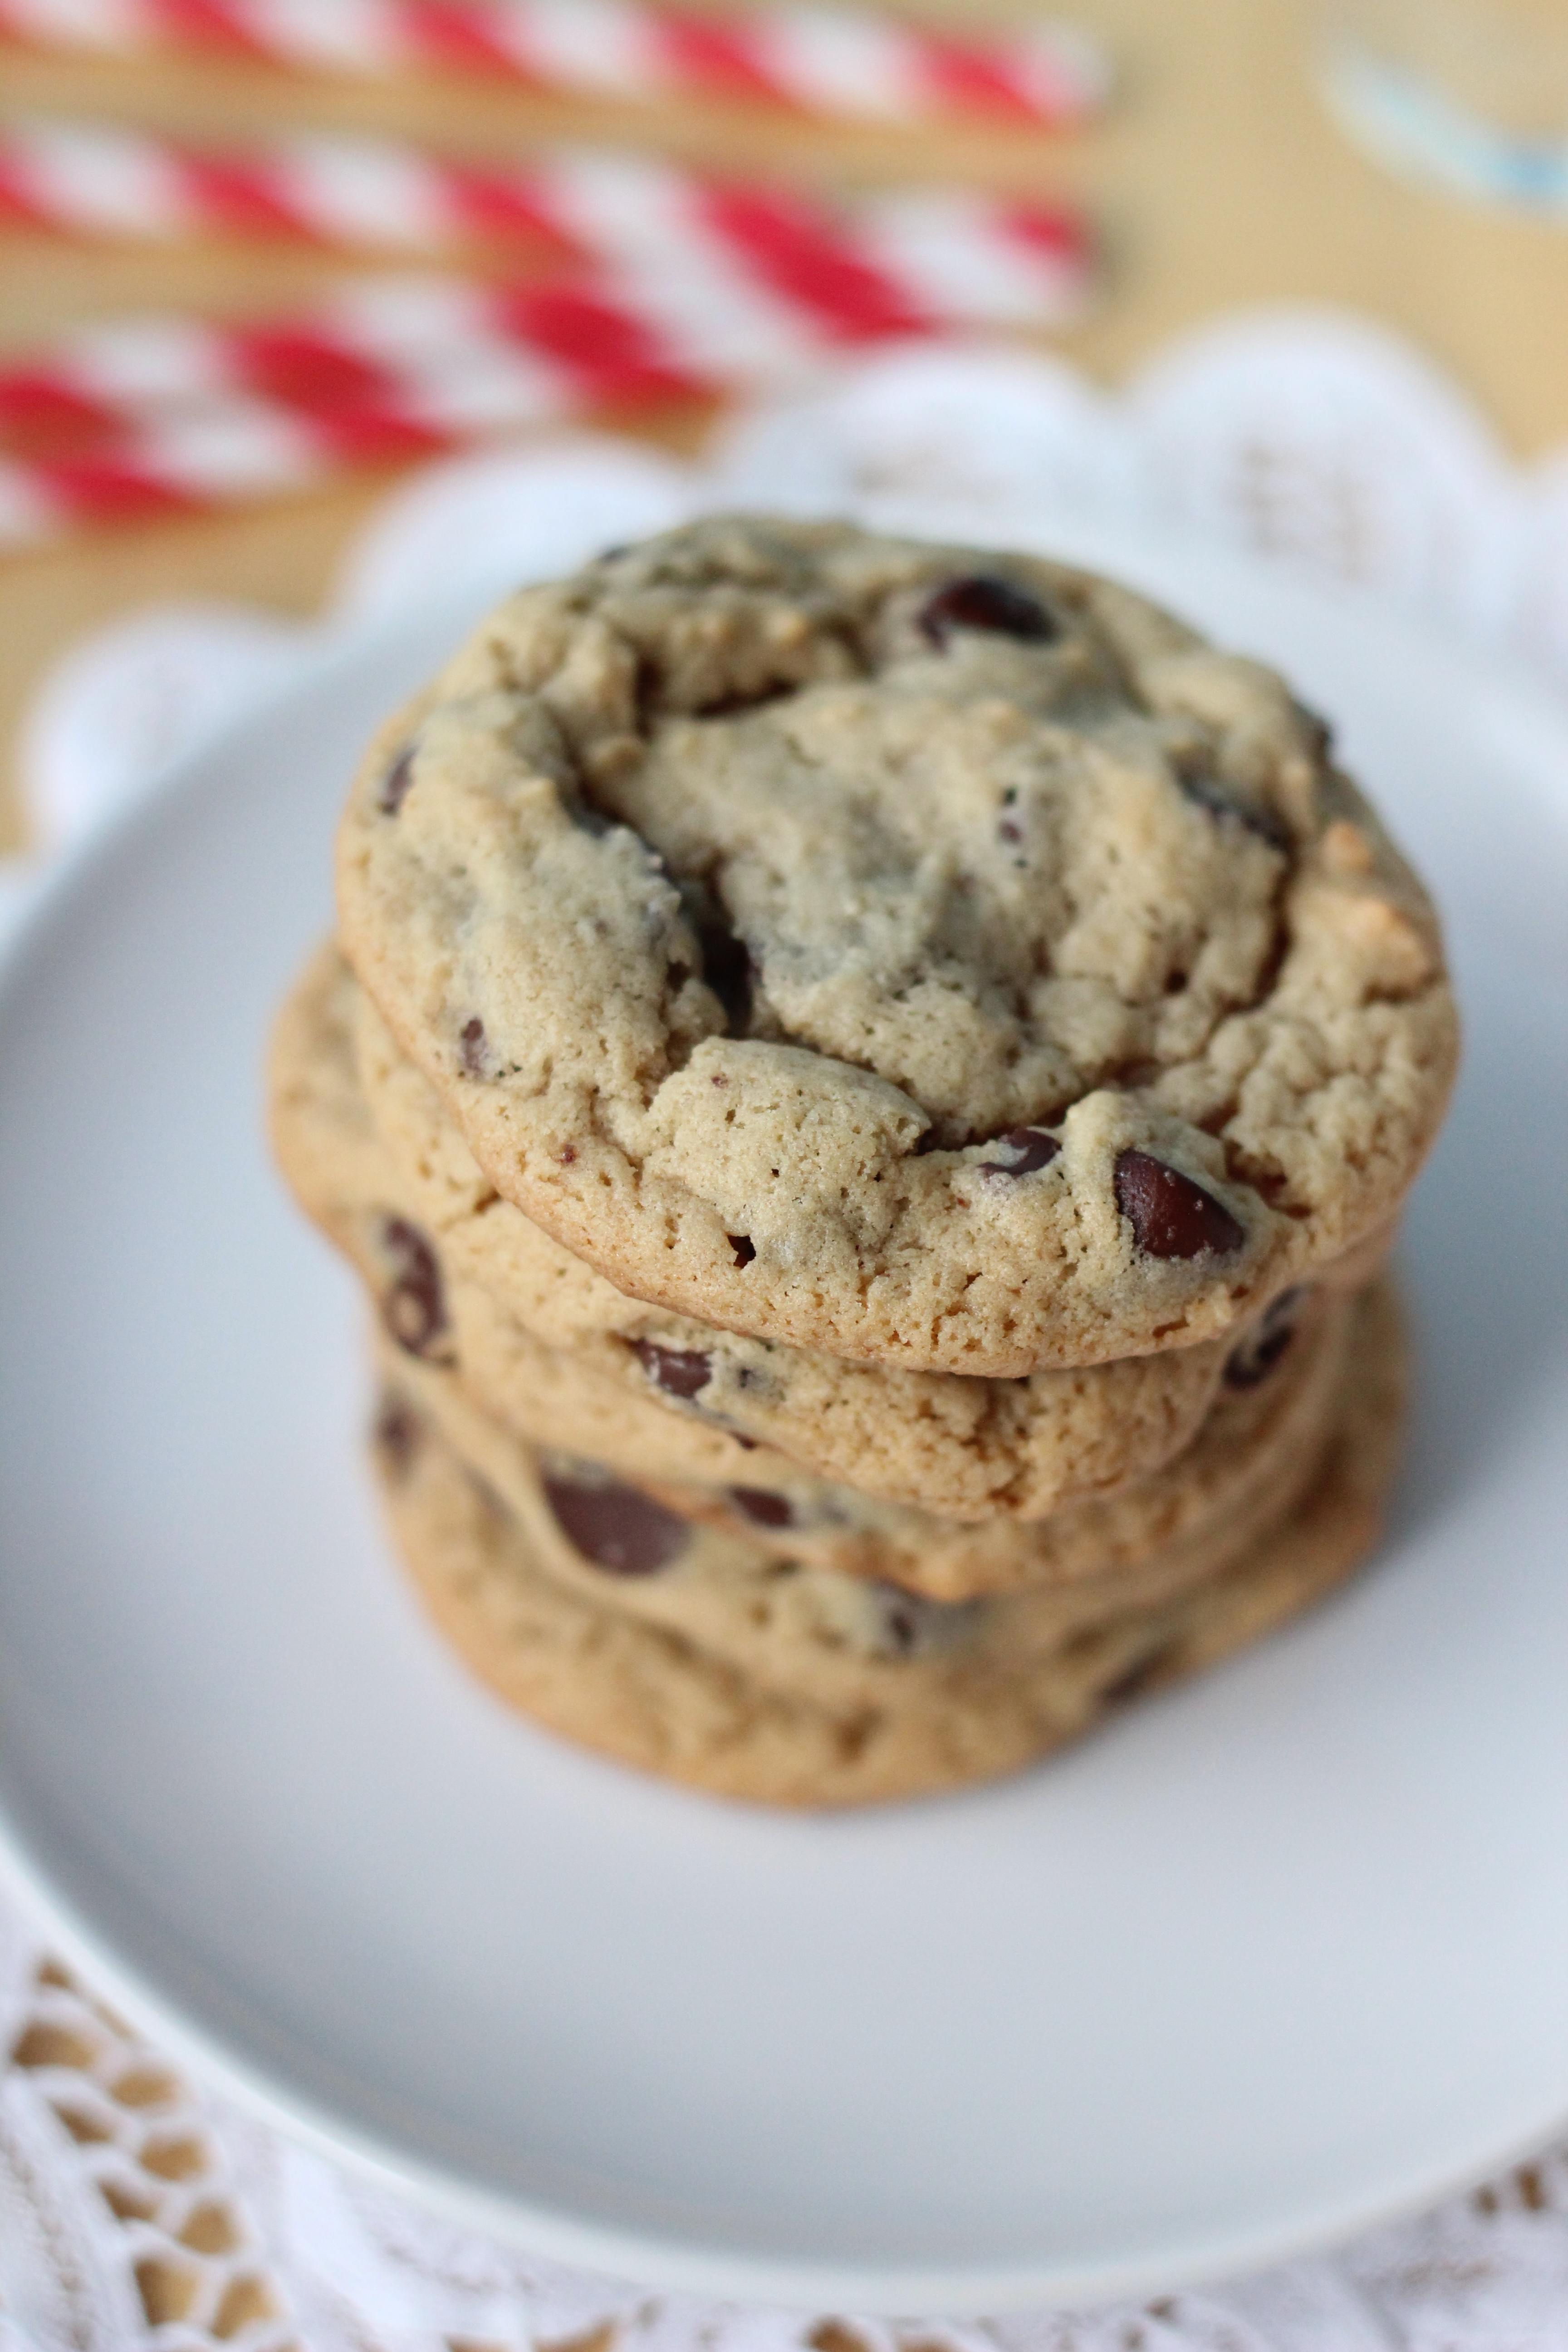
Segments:
[[[270,1091],[301,1204],[404,1345],[456,1355],[524,1435],[632,1475],[813,1472],[950,1517],[1037,1519],[1171,1461],[1225,1381],[1232,1341],[978,1381],[839,1364],[625,1298],[496,1195],[331,948],[277,1023]]]

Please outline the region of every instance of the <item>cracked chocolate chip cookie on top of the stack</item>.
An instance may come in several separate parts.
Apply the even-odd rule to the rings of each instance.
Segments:
[[[371,746],[348,953],[632,1296],[1023,1376],[1218,1336],[1441,1117],[1432,908],[1274,673],[1060,564],[712,520]]]

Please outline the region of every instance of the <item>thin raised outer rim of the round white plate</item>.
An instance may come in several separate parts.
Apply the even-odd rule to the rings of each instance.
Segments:
[[[957,520],[957,517],[954,517]],[[1023,517],[1020,517],[1023,527]],[[936,536],[936,534],[929,534]],[[1037,536],[1023,527],[1020,536]],[[1500,694],[1514,708],[1528,706],[1530,722],[1556,729],[1568,746],[1568,701],[1552,691],[1519,656],[1450,635],[1427,621],[1392,609],[1363,590],[1324,590],[1302,581],[1284,564],[1272,564],[1234,548],[1215,546],[1185,532],[1154,532],[1100,517],[1060,517],[1058,539],[1070,560],[1126,564],[1138,569],[1138,555],[1154,569],[1180,560],[1194,576],[1267,581],[1269,590],[1312,607],[1319,614],[1361,614],[1385,640],[1403,640],[1410,654],[1439,654],[1446,668],[1460,670],[1479,691]],[[1079,548],[1088,553],[1079,555]],[[1095,548],[1110,550],[1095,555]],[[1171,590],[1164,590],[1166,595]],[[461,628],[475,607],[473,583],[442,583],[418,609],[381,614],[369,623],[327,621],[301,649],[299,663],[282,680],[247,696],[223,727],[200,746],[172,760],[155,779],[106,814],[82,840],[73,842],[52,868],[33,882],[16,920],[0,938],[0,1011],[26,976],[28,960],[54,924],[63,920],[82,891],[92,889],[96,868],[115,858],[122,840],[146,826],[169,821],[179,802],[202,800],[214,788],[214,771],[230,746],[242,743],[268,717],[317,689],[329,689],[341,670],[386,654],[400,637],[425,642],[451,614]],[[1563,790],[1568,807],[1568,786]],[[1211,2232],[1199,2241],[1159,2246],[1121,2258],[1084,2263],[844,2263],[799,2256],[757,2256],[715,2244],[696,2244],[679,2227],[646,2232],[609,2220],[581,2218],[550,2199],[484,2187],[458,2166],[397,2143],[395,2136],[353,2122],[334,2110],[331,2098],[317,2098],[299,2086],[287,2067],[270,2067],[242,2051],[221,2025],[188,2016],[179,1999],[165,1994],[143,1969],[115,1950],[113,1933],[92,1917],[56,1882],[49,1863],[35,1851],[26,1828],[12,1816],[9,1790],[0,1771],[0,1872],[21,1896],[31,1917],[47,1931],[63,1959],[103,1990],[150,2039],[160,2042],[193,2074],[197,2091],[212,2086],[277,2129],[284,2138],[348,2164],[383,2187],[423,2201],[444,2218],[491,2234],[548,2260],[592,2270],[628,2286],[654,2286],[665,2293],[712,2296],[752,2305],[780,2305],[799,2312],[851,2310],[860,2314],[969,2317],[978,2312],[1046,2310],[1063,2303],[1107,2303],[1147,2298],[1164,2288],[1213,2284],[1345,2244],[1366,2230],[1385,2227],[1427,2211],[1446,2197],[1476,2187],[1497,2171],[1523,2161],[1568,2129],[1568,2100],[1530,2110],[1497,2129],[1481,2150],[1467,2143],[1434,2154],[1429,2164],[1406,2169],[1378,2192],[1347,2192],[1324,2199],[1307,2213],[1284,2220],[1258,2220],[1234,2232]],[[1465,2140],[1458,2131],[1453,2138]],[[1171,2230],[1180,2239],[1180,2225]]]

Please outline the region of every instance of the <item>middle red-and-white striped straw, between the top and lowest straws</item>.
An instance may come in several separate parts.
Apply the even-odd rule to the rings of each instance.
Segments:
[[[327,252],[522,240],[630,287],[705,280],[738,308],[783,306],[844,339],[1056,327],[1093,275],[1079,212],[964,188],[820,202],[595,148],[524,165],[324,136],[212,153],[73,122],[0,125],[0,221],[92,238],[219,230]]]

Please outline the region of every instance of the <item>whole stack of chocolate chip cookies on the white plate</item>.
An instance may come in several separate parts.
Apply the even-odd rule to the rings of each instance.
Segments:
[[[397,1545],[738,1797],[1027,1764],[1378,1531],[1455,1014],[1324,724],[1103,579],[712,520],[376,739],[273,1131]]]

